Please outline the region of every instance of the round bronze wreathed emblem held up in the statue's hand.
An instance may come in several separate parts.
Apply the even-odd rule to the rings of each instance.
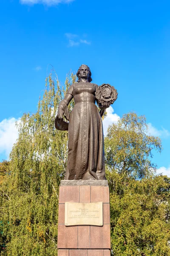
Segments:
[[[117,90],[110,84],[102,84],[96,89],[96,99],[99,103],[109,103],[110,105],[117,99]]]

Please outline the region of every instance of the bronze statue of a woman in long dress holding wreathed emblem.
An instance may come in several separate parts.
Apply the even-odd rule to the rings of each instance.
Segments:
[[[72,84],[60,102],[55,127],[68,130],[68,160],[65,180],[105,180],[104,138],[102,115],[117,99],[110,84],[91,83],[91,70],[81,65],[78,81]],[[71,114],[68,104],[74,98]],[[101,111],[99,112],[97,102]],[[69,124],[63,120],[63,115]]]

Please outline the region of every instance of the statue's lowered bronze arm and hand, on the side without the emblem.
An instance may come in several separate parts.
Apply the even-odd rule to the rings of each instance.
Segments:
[[[57,116],[59,119],[62,119],[64,115],[67,120],[69,120],[70,113],[68,111],[68,104],[73,99],[73,95],[66,93],[64,99],[59,103]]]

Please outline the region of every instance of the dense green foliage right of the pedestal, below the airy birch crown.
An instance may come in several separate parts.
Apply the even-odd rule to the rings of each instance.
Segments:
[[[170,255],[170,179],[164,176],[126,183],[112,174],[111,245],[113,256]]]

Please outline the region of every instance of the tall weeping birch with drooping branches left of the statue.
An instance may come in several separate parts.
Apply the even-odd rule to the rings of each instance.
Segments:
[[[37,112],[23,114],[18,124],[19,138],[10,154],[10,175],[1,197],[7,243],[2,255],[56,256],[59,184],[66,167],[68,133],[56,130],[54,120],[74,81],[74,74],[68,74],[61,89],[51,73]]]

